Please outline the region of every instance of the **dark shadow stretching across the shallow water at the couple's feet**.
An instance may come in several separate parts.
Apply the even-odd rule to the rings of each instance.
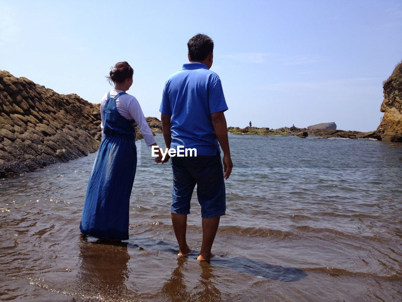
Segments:
[[[128,248],[144,248],[149,250],[160,250],[174,255],[178,254],[178,248],[175,244],[152,238],[130,239]],[[199,251],[194,251],[188,255],[188,258],[197,258]],[[231,269],[240,273],[247,273],[257,277],[264,277],[276,281],[291,282],[298,281],[307,276],[307,273],[295,267],[282,267],[280,265],[271,265],[265,262],[242,258],[215,256],[208,262],[213,267]]]

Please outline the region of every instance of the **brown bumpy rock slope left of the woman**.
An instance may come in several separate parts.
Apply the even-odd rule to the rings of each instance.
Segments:
[[[0,70],[0,177],[88,155],[99,146],[100,104]]]

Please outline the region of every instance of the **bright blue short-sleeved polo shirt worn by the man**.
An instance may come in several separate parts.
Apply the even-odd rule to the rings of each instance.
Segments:
[[[172,116],[170,148],[196,148],[197,155],[220,153],[211,114],[226,110],[219,76],[205,64],[184,64],[166,81],[159,109]]]

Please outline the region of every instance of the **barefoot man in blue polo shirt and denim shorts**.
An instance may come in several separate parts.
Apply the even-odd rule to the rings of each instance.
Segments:
[[[187,43],[190,63],[166,81],[160,105],[162,130],[167,148],[197,149],[196,157],[172,157],[173,187],[170,212],[179,256],[191,249],[186,242],[187,214],[197,184],[201,205],[203,240],[199,261],[214,255],[211,247],[226,211],[224,178],[232,172],[228,128],[224,111],[228,110],[221,80],[209,70],[213,62],[213,41],[198,34]],[[218,142],[224,152],[222,161]],[[166,159],[165,159],[166,161]]]

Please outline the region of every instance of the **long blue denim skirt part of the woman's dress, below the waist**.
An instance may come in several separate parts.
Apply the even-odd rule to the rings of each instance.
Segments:
[[[80,224],[82,234],[128,239],[129,202],[136,168],[134,138],[103,139],[86,190]]]

